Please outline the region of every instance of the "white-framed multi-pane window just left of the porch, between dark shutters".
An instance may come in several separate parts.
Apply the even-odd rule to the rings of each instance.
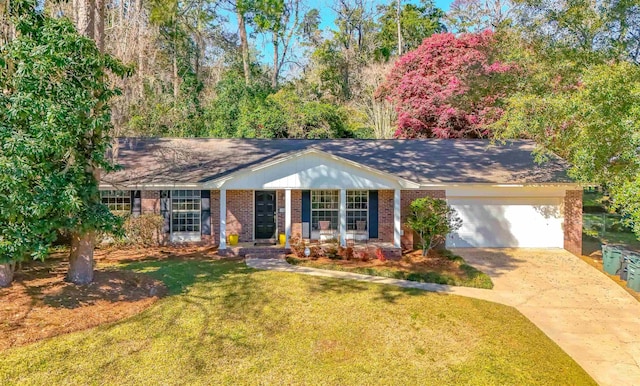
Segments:
[[[200,190],[171,191],[171,233],[200,233]]]

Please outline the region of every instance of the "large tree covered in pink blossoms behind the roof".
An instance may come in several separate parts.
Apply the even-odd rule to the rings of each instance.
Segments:
[[[490,137],[516,72],[496,59],[495,47],[490,31],[445,33],[398,59],[377,91],[398,112],[396,137]]]

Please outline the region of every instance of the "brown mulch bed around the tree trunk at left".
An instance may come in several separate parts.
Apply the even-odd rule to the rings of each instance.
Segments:
[[[86,286],[64,281],[68,263],[62,256],[25,264],[11,287],[0,288],[0,351],[133,316],[166,294],[164,284],[148,275],[110,267],[154,258],[142,250],[96,251],[99,267]]]

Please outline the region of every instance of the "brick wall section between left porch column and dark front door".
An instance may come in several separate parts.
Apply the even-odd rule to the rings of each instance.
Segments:
[[[227,190],[227,236],[253,241],[253,190]]]

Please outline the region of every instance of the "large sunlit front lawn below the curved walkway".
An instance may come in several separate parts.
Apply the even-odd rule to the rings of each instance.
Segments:
[[[2,352],[0,384],[594,384],[494,303],[238,262],[127,268],[172,295],[130,319]]]

